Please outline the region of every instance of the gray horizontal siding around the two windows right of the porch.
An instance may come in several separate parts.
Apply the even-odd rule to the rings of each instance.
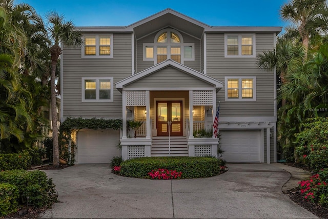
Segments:
[[[273,48],[273,33],[256,34],[256,54]],[[274,74],[257,67],[256,58],[224,57],[224,34],[207,34],[207,75],[224,82],[225,76],[255,76],[255,102],[225,102],[224,88],[217,94],[220,116],[274,116]]]

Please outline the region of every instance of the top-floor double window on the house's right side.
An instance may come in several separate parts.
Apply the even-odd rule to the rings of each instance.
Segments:
[[[224,57],[255,57],[255,34],[224,34]]]

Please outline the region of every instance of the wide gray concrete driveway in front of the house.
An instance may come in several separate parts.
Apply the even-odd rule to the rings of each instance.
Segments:
[[[269,164],[228,164],[210,178],[145,180],[108,165],[46,170],[59,203],[40,218],[317,218],[281,192],[290,173]]]

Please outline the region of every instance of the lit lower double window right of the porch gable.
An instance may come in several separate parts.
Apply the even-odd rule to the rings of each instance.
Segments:
[[[256,101],[255,77],[226,77],[226,101]]]

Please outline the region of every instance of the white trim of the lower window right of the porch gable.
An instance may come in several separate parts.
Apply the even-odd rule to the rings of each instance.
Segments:
[[[253,98],[242,98],[241,80],[253,79]],[[238,98],[228,98],[228,79],[238,79]],[[256,101],[256,77],[255,76],[227,76],[224,77],[224,99],[226,101]]]

